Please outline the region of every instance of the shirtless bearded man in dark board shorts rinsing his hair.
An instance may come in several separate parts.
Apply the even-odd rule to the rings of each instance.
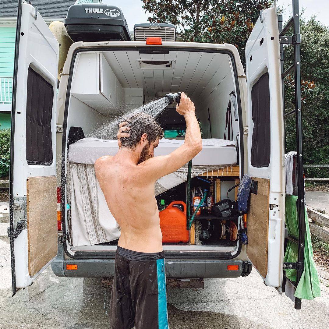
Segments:
[[[154,157],[163,130],[153,117],[135,114],[120,124],[119,150],[95,163],[107,205],[120,225],[110,321],[113,329],[168,328],[164,252],[154,186],[202,149],[194,104],[184,93],[176,111],[186,121],[182,146]]]

